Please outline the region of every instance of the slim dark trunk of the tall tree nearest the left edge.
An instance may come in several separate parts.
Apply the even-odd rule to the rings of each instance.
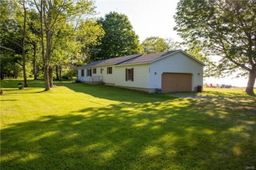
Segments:
[[[24,88],[28,87],[27,73],[26,73],[26,54],[25,54],[25,38],[26,38],[26,20],[27,12],[25,7],[25,2],[23,1],[24,9],[24,24],[23,24],[23,36],[22,36],[22,69],[23,69],[23,78],[24,78]]]

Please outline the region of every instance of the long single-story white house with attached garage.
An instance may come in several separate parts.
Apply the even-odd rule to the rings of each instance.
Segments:
[[[144,92],[194,92],[203,86],[202,61],[183,50],[94,61],[78,68],[78,80]]]

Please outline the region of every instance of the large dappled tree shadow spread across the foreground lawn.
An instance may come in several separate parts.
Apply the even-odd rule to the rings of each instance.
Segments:
[[[255,109],[230,112],[229,106],[209,101],[183,100],[178,106],[177,99],[154,100],[12,124],[1,131],[1,168],[244,169],[256,164]]]

